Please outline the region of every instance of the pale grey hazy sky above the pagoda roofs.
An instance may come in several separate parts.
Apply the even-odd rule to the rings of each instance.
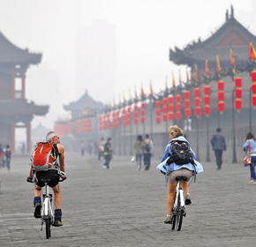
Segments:
[[[169,62],[169,48],[206,40],[225,22],[231,4],[235,18],[256,35],[253,0],[1,0],[0,32],[21,49],[42,53],[41,64],[26,74],[26,98],[51,105],[48,116],[33,122],[51,128],[57,117],[67,116],[63,104],[84,94],[74,90],[76,37],[95,19],[117,27],[117,95],[95,99],[104,102],[123,92],[128,98],[135,85],[139,93],[141,83],[148,94],[150,79],[155,92],[164,88],[166,76],[170,86],[179,67]],[[185,68],[180,70],[185,78]]]

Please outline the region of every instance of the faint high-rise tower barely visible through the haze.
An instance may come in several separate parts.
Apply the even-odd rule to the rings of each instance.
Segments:
[[[97,101],[109,101],[116,89],[116,26],[94,20],[76,42],[76,93],[87,88]]]

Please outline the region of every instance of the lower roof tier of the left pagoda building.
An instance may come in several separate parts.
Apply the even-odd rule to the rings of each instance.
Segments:
[[[0,101],[0,116],[44,116],[49,106],[35,105],[26,100]]]

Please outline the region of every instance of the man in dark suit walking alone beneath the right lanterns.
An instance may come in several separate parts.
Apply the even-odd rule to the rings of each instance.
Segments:
[[[222,153],[223,150],[226,151],[226,142],[224,136],[222,136],[221,128],[216,129],[217,133],[211,139],[211,144],[213,146],[213,150],[215,150],[215,157],[217,163],[217,169],[222,168]]]

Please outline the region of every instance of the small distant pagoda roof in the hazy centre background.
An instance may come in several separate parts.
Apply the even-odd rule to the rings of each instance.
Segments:
[[[64,105],[65,110],[71,110],[75,112],[81,112],[84,109],[92,108],[103,109],[104,105],[100,101],[94,101],[94,99],[87,93],[87,91],[79,98],[78,101]]]

